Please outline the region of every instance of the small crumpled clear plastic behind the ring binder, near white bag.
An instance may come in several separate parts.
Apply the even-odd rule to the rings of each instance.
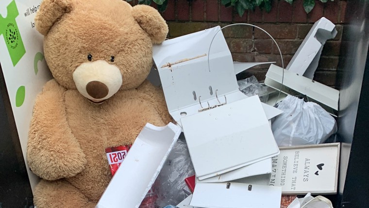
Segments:
[[[268,87],[260,85],[255,76],[252,75],[249,78],[238,80],[237,84],[239,90],[248,97],[258,95],[261,102],[268,101]]]

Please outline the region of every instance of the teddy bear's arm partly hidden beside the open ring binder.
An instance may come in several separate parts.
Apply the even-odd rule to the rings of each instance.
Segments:
[[[162,121],[168,124],[172,121],[172,117],[169,115],[167,104],[165,102],[165,97],[163,90],[159,87],[153,86],[148,80],[145,80],[137,90],[140,94],[143,94],[145,99],[150,101],[156,111],[159,113]]]

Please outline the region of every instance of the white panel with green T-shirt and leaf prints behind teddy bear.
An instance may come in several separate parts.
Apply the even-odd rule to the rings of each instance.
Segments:
[[[1,0],[0,4],[0,64],[32,189],[38,177],[27,163],[28,130],[36,95],[51,78],[43,36],[34,28],[41,1]]]

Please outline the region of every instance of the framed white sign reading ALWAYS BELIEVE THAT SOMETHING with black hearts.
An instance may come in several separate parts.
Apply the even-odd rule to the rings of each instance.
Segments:
[[[272,158],[269,186],[281,186],[282,194],[334,194],[340,143],[281,147]]]

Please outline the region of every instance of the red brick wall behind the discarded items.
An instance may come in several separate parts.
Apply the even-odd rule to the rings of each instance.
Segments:
[[[314,80],[325,85],[336,87],[336,70],[340,50],[342,27],[344,24],[346,1],[335,0],[322,3],[316,0],[314,9],[306,14],[302,0],[296,0],[292,5],[284,0],[272,0],[270,13],[260,11],[245,12],[239,17],[233,8],[225,8],[220,0],[168,0],[168,8],[162,14],[169,26],[168,38],[204,30],[217,25],[225,26],[231,23],[255,24],[272,35],[284,57],[285,66],[297,51],[314,22],[320,17],[331,20],[338,31],[333,40],[326,42]],[[259,29],[248,26],[233,26],[223,30],[228,46],[235,61],[262,62],[276,61],[281,66],[277,47]],[[259,80],[265,78],[266,66],[251,69],[244,78],[254,74]]]

